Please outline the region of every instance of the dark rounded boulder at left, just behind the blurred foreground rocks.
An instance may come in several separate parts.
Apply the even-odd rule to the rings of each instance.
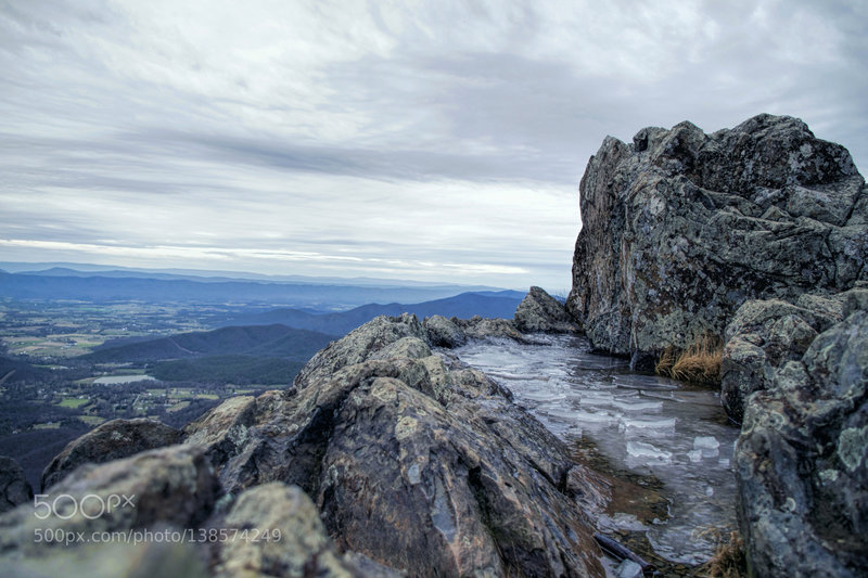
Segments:
[[[105,422],[71,441],[54,457],[42,472],[42,489],[53,486],[79,465],[110,462],[180,440],[179,431],[145,418]]]

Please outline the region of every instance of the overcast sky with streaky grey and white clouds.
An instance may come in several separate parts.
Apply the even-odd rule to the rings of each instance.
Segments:
[[[566,293],[605,136],[868,167],[868,0],[0,0],[0,260]]]

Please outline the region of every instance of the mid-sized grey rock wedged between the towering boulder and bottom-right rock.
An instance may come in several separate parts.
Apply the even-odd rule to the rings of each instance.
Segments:
[[[752,393],[768,389],[786,362],[800,360],[819,333],[858,309],[868,309],[866,288],[805,294],[795,304],[770,299],[742,305],[727,325],[720,370],[720,399],[730,418],[741,423]]]

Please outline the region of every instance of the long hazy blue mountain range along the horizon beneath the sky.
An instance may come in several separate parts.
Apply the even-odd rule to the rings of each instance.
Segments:
[[[7,264],[9,265],[9,264]],[[228,278],[195,278],[136,271],[78,271],[51,268],[35,272],[0,271],[0,296],[16,299],[76,299],[93,303],[142,300],[285,305],[318,311],[334,311],[371,303],[420,303],[467,292],[462,285],[400,286],[337,283],[291,283]],[[512,292],[515,293],[515,292]]]

